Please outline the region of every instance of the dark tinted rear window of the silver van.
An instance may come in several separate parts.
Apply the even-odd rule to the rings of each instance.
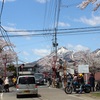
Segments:
[[[20,77],[19,84],[35,84],[34,77]]]

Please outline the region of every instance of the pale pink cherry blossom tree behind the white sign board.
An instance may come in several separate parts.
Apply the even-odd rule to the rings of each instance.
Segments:
[[[96,53],[87,51],[79,51],[73,55],[73,60],[79,64],[88,64],[90,72],[100,71],[100,56],[98,57]]]

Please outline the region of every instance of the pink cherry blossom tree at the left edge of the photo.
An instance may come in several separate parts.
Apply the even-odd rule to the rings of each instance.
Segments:
[[[9,46],[14,47],[14,44],[9,43],[3,39],[0,39],[0,71],[4,72],[5,76],[6,76],[6,64],[15,62],[16,56],[17,56],[16,52],[11,50]],[[5,70],[5,71],[2,71],[2,70]]]

